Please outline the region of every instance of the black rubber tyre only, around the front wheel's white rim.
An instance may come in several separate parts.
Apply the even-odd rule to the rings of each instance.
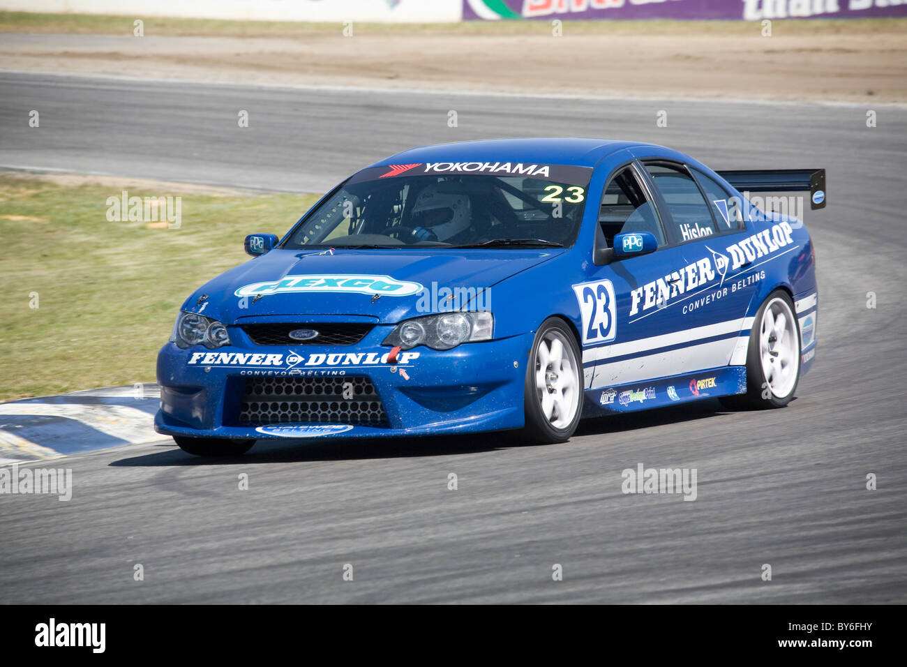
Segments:
[[[568,405],[565,408],[567,414],[558,418],[551,419],[542,412],[541,390],[537,386],[537,373],[541,369],[539,359],[540,343],[546,337],[555,337],[561,341],[563,354],[571,357],[571,374],[575,386],[575,401],[564,400],[562,402]],[[551,368],[550,366],[548,368]],[[562,367],[561,367],[562,368]],[[552,370],[551,372],[555,372]],[[555,378],[558,378],[555,373]],[[564,378],[568,381],[568,378]],[[561,392],[561,397],[565,394]],[[541,327],[535,333],[535,339],[532,341],[532,349],[529,352],[529,363],[526,365],[526,381],[523,390],[523,408],[526,415],[526,426],[522,430],[522,436],[532,442],[553,444],[567,442],[580,423],[582,415],[582,403],[584,399],[583,381],[582,381],[582,353],[580,346],[573,335],[570,326],[560,318],[549,318],[541,323]],[[573,406],[575,402],[575,407]],[[572,411],[572,415],[570,412]]]

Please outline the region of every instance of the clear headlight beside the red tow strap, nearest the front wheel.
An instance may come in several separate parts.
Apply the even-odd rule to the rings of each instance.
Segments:
[[[449,312],[407,319],[385,338],[383,345],[401,349],[424,345],[433,349],[455,348],[461,343],[491,340],[494,317],[490,312]]]

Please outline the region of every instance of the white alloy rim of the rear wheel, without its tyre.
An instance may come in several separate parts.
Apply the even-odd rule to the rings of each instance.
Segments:
[[[800,334],[785,299],[768,302],[759,328],[759,358],[768,388],[785,398],[796,385],[800,370]]]

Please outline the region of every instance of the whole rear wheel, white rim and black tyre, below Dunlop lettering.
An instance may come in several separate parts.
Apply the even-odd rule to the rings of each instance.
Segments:
[[[756,313],[746,353],[746,394],[721,399],[727,407],[785,407],[800,380],[800,326],[782,289]]]

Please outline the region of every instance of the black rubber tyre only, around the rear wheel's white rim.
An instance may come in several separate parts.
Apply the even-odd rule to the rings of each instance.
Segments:
[[[770,304],[775,307],[777,301],[782,301],[787,306],[787,312],[792,319],[791,324],[795,331],[795,377],[793,385],[789,390],[778,396],[770,386],[766,378],[766,372],[763,369],[761,334],[763,318],[766,309]],[[756,319],[753,321],[753,329],[749,333],[749,348],[746,350],[746,394],[737,394],[736,396],[721,397],[721,404],[730,409],[744,410],[765,410],[775,407],[785,407],[793,400],[796,387],[800,382],[800,355],[802,354],[803,340],[800,335],[800,322],[796,317],[794,301],[784,289],[775,289],[768,295],[762,306],[756,312]],[[786,389],[786,387],[785,387]]]

